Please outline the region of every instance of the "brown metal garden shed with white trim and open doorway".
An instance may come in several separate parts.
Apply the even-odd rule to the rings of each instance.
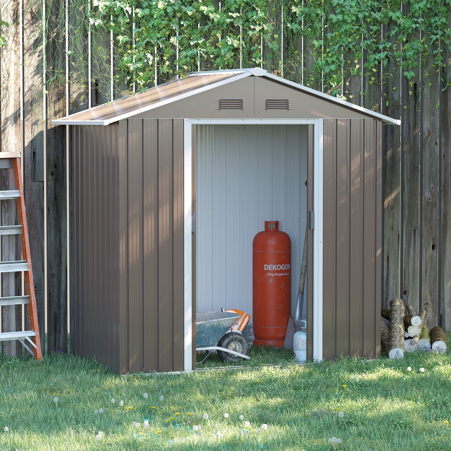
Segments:
[[[267,73],[197,72],[72,126],[74,352],[117,373],[195,367],[196,311],[252,316],[252,238],[308,225],[308,359],[380,355],[383,125]],[[292,290],[293,291],[293,290]]]

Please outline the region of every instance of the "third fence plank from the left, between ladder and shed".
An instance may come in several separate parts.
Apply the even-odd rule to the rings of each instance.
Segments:
[[[48,350],[67,350],[65,1],[50,4],[47,22],[47,334]]]

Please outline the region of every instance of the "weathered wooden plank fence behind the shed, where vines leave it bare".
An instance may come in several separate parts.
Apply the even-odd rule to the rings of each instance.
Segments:
[[[302,40],[295,59],[284,53],[290,36],[282,27],[283,14],[274,8],[270,11],[279,47],[274,50],[263,43],[263,67],[286,77],[295,73],[296,81],[308,84],[304,74],[315,58],[311,43]],[[109,36],[103,46],[92,46],[92,31],[83,14],[78,0],[0,0],[1,20],[9,23],[6,45],[0,50],[0,147],[2,152],[23,154],[38,319],[42,340],[47,331],[49,351],[67,350],[72,292],[68,283],[70,132],[52,126],[51,120],[119,98],[124,90],[123,83],[112,76],[117,64],[115,46]],[[383,137],[384,304],[399,296],[418,310],[428,301],[432,306],[429,325],[450,329],[451,90],[442,91],[442,74],[423,66],[412,86],[402,74],[384,85],[384,74],[396,70],[391,64],[381,64],[379,84],[370,86],[365,76],[345,77],[342,93],[349,101],[377,105],[383,114],[402,120],[400,128],[386,127]],[[88,76],[80,83],[78,75],[86,71]],[[9,180],[5,174],[1,179],[5,189]],[[13,216],[3,205],[2,223],[14,220]],[[6,239],[2,237],[2,259],[11,260],[18,246]],[[2,276],[2,295],[20,294],[21,289],[20,277]],[[1,318],[4,331],[26,327],[22,307],[2,308]],[[5,344],[3,352],[14,354],[20,348]]]

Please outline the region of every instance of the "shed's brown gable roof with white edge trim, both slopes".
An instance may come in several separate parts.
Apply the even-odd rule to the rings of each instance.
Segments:
[[[268,80],[272,80],[274,83],[285,84],[306,94],[321,98],[323,101],[326,100],[331,102],[336,106],[342,107],[344,110],[352,110],[354,114],[359,112],[363,115],[380,119],[383,124],[400,124],[400,120],[392,119],[391,117],[381,115],[375,111],[315,91],[314,89],[305,87],[299,83],[290,82],[284,78],[269,74],[266,70],[260,68],[194,72],[189,74],[186,78],[180,78],[161,86],[150,88],[146,92],[108,102],[104,105],[90,108],[89,110],[84,110],[61,119],[53,120],[52,124],[108,125],[118,120],[136,116],[148,110],[168,105],[186,97],[195,96],[201,92],[206,92],[249,76],[264,77]]]

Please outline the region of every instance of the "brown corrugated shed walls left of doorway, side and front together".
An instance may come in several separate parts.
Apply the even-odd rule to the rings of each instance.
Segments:
[[[184,367],[183,120],[74,128],[74,350]]]

